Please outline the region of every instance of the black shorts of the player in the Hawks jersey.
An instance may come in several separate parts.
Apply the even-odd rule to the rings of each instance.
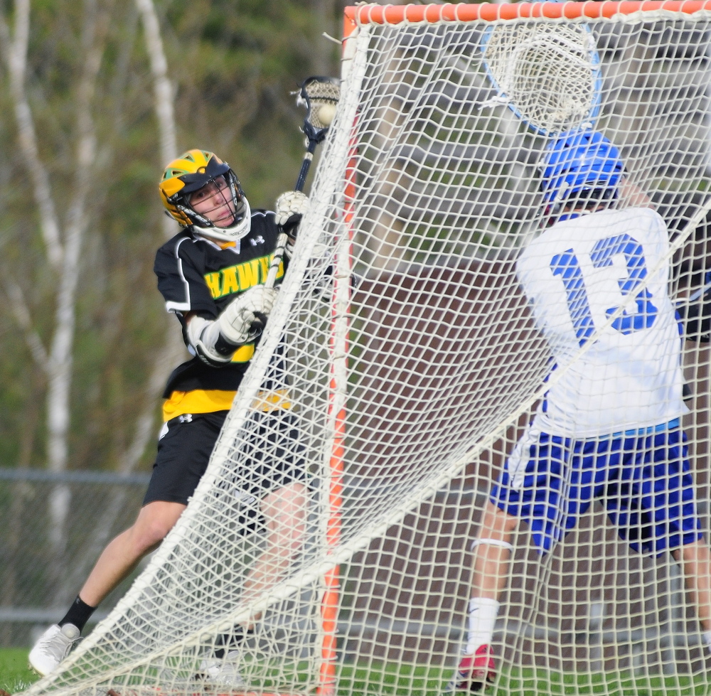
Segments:
[[[228,411],[185,414],[166,423],[161,432],[158,456],[143,504],[164,500],[188,504],[205,473],[215,442]],[[294,415],[288,411],[256,414],[250,422],[254,432],[247,451],[249,466],[235,472],[235,482],[245,493],[263,498],[273,488],[304,481],[306,470]]]

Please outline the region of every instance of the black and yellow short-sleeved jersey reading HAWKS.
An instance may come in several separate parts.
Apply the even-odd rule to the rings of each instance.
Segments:
[[[215,319],[240,293],[264,283],[278,236],[274,213],[255,210],[250,232],[236,242],[208,240],[186,227],[156,252],[158,289],[166,309],[181,322],[188,350],[193,352],[186,338],[186,314]],[[283,277],[282,266],[277,284]],[[164,418],[229,409],[254,353],[255,344],[247,343],[224,367],[211,367],[197,357],[179,365],[164,392]]]

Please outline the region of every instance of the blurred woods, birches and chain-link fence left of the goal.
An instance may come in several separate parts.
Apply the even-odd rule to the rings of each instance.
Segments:
[[[304,152],[291,92],[338,75],[321,34],[345,4],[0,0],[0,645],[63,614],[140,505],[71,475],[149,473],[187,357],[153,274],[178,231],[162,169],[215,151],[271,208]]]

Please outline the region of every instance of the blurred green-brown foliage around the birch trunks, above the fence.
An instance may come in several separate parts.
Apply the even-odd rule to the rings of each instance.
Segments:
[[[156,0],[173,86],[178,151],[210,149],[232,164],[252,208],[292,188],[304,112],[290,92],[338,70],[343,3],[324,0]],[[12,30],[14,12],[2,12]],[[161,159],[149,58],[134,3],[37,0],[28,27],[26,93],[55,215],[68,225],[77,178],[77,102],[87,59],[86,16],[100,15],[100,68],[90,116],[88,174],[70,390],[68,469],[117,469],[144,400],[151,358],[175,320],[152,271],[163,241]],[[83,33],[83,34],[82,34]],[[23,304],[44,346],[52,339],[60,273],[46,259],[36,184],[14,118],[9,71],[0,73],[0,466],[46,466],[46,374],[18,319]],[[176,225],[177,232],[178,227]],[[60,262],[61,265],[61,262]],[[20,294],[21,293],[21,294]],[[156,400],[156,427],[159,402]],[[146,448],[141,468],[151,464]]]

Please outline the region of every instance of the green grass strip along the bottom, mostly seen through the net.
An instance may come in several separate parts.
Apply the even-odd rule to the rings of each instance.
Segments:
[[[0,650],[0,688],[11,694],[38,679],[27,668],[26,649]],[[268,672],[268,670],[267,670]],[[371,664],[367,668],[344,665],[338,675],[338,696],[441,696],[450,669],[426,665]],[[305,678],[305,676],[304,676]],[[264,687],[269,687],[267,677]],[[274,675],[272,686],[279,684]],[[485,696],[708,696],[710,682],[696,677],[634,677],[555,673],[547,670],[505,670],[496,688]]]

